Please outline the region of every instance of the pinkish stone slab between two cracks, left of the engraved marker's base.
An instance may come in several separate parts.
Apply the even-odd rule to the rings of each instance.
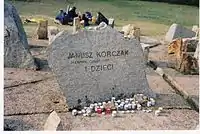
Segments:
[[[54,78],[4,89],[4,115],[68,111]]]

